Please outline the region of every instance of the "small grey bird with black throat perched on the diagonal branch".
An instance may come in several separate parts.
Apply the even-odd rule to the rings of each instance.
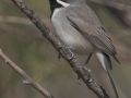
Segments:
[[[110,73],[110,57],[120,62],[116,58],[116,48],[95,12],[85,0],[49,0],[49,4],[56,37],[73,52],[87,54],[85,64],[94,54],[107,73],[116,98],[119,98]]]

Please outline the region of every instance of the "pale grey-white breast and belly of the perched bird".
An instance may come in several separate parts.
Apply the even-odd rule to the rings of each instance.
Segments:
[[[64,11],[57,9],[51,16],[51,23],[55,28],[56,36],[78,53],[86,54],[93,51],[93,46],[87,41],[81,33],[79,33],[68,21]]]

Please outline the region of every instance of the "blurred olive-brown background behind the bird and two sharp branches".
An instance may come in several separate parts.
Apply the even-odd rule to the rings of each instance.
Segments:
[[[48,0],[24,0],[51,28]],[[88,0],[117,49],[120,65],[112,60],[112,76],[120,98],[131,98],[131,0]],[[53,30],[53,29],[52,29]],[[0,0],[0,48],[33,79],[56,98],[97,98],[34,24],[11,2]],[[76,56],[84,64],[86,57]],[[97,60],[88,63],[93,78],[111,96],[109,79]],[[44,98],[36,89],[23,85],[23,78],[0,60],[0,98]]]

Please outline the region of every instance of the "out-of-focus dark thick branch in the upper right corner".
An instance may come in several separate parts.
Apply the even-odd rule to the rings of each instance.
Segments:
[[[105,5],[119,21],[131,28],[131,7],[110,0],[91,0],[92,2]]]

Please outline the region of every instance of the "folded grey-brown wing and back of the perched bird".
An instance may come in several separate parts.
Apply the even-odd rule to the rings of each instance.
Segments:
[[[95,13],[86,4],[70,5],[67,8],[66,15],[71,25],[93,44],[94,47],[102,52],[112,56],[117,60],[115,57],[117,52],[109,36],[102,27]]]

